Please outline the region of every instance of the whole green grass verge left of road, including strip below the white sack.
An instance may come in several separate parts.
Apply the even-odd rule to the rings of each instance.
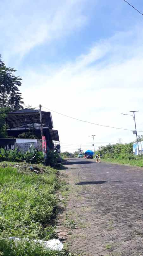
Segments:
[[[43,174],[31,172],[28,164],[1,163],[0,166],[0,255],[68,255],[65,251],[47,251],[40,244],[9,237],[49,240],[56,238],[53,223],[59,187],[57,171],[37,165]],[[36,167],[36,166],[35,166]]]

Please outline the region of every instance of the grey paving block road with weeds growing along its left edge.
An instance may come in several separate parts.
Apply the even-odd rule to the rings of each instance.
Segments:
[[[77,223],[65,241],[70,250],[143,255],[143,168],[81,158],[64,167],[70,193],[63,215]]]

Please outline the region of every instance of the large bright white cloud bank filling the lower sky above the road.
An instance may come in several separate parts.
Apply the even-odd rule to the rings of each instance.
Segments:
[[[33,106],[40,103],[71,117],[131,130],[134,130],[134,120],[121,113],[140,110],[136,119],[137,129],[142,131],[143,46],[136,28],[134,33],[136,39],[132,38],[133,32],[127,32],[100,41],[75,61],[52,71],[47,68],[49,75],[26,70],[22,87],[26,103]],[[142,34],[140,30],[140,37]],[[129,43],[125,44],[127,36]],[[88,136],[93,133],[98,142],[135,139],[130,131],[86,124],[53,112],[52,115],[54,128],[59,130],[63,143],[89,145],[92,139]],[[70,145],[65,145],[63,150],[67,147]],[[78,148],[71,145],[71,151],[74,151],[73,147]],[[83,146],[83,149],[87,147]]]

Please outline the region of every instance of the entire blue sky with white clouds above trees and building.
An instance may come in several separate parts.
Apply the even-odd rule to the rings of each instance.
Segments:
[[[143,12],[142,0],[129,0]],[[23,79],[25,106],[143,131],[143,16],[123,0],[5,0],[0,53]],[[132,131],[51,111],[62,152],[135,140]],[[139,135],[143,132],[138,132]]]

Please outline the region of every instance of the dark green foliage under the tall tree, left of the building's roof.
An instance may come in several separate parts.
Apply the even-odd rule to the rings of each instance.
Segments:
[[[7,131],[6,131],[6,123],[5,118],[7,117],[8,113],[10,111],[10,108],[0,108],[0,138],[6,138]]]

